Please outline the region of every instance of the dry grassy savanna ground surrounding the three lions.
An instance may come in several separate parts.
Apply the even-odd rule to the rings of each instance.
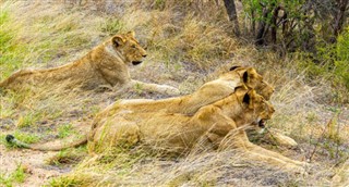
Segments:
[[[135,30],[148,57],[131,76],[190,94],[231,65],[254,66],[276,87],[269,128],[299,144],[294,149],[256,144],[309,161],[309,175],[244,160],[234,151],[164,157],[146,147],[110,150],[98,158],[85,147],[59,152],[21,150],[25,142],[65,140],[89,129],[94,115],[113,101],[167,98],[142,88],[118,92],[63,90],[1,92],[1,186],[347,186],[349,109],[346,87],[311,74],[297,54],[280,58],[233,37],[221,7],[189,1],[0,1],[0,78],[19,68],[52,67],[79,59],[116,33]],[[191,4],[191,5],[189,5]],[[238,4],[239,5],[239,4]],[[322,74],[323,75],[323,74]],[[339,91],[338,91],[339,90]]]

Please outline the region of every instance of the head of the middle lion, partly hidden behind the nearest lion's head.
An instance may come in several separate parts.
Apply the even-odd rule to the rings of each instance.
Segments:
[[[238,72],[244,85],[251,89],[255,89],[256,92],[263,96],[266,100],[269,100],[274,87],[263,79],[263,76],[260,75],[253,67],[242,67],[242,66],[232,66],[230,67],[231,72]]]

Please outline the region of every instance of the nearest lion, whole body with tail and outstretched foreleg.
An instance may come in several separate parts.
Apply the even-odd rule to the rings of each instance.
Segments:
[[[275,112],[273,105],[245,86],[212,104],[204,105],[193,115],[166,112],[133,112],[121,110],[99,113],[88,137],[67,146],[87,140],[89,152],[99,153],[112,147],[152,145],[173,152],[188,152],[197,142],[214,149],[237,149],[251,159],[303,172],[304,163],[268,151],[249,141],[246,126],[265,126]],[[17,144],[13,136],[7,140]],[[17,144],[19,145],[19,144]],[[59,150],[64,146],[20,145],[36,150]]]

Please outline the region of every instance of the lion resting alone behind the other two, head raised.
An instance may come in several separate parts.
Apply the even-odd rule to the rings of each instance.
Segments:
[[[134,32],[115,35],[95,47],[83,58],[65,65],[47,70],[21,70],[0,83],[0,88],[20,90],[23,86],[67,84],[67,87],[79,86],[83,89],[95,89],[101,86],[134,87],[144,90],[179,95],[171,86],[147,84],[131,79],[129,64],[141,64],[147,53],[134,38]],[[68,82],[68,83],[67,83]]]

